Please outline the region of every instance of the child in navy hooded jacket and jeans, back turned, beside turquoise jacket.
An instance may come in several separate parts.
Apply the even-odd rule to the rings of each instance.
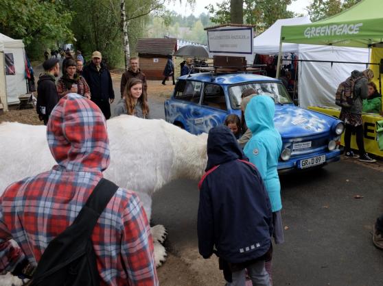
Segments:
[[[244,286],[246,269],[253,285],[270,285],[264,266],[271,251],[272,211],[262,177],[244,160],[226,126],[209,131],[207,156],[207,172],[198,184],[200,255],[218,255],[229,285]]]

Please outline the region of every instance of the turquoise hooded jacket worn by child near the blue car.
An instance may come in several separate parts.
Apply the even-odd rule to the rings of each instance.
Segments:
[[[281,185],[277,172],[281,155],[281,135],[274,126],[275,104],[270,96],[255,96],[245,110],[247,127],[253,137],[244,147],[244,153],[264,179],[272,211],[279,211],[281,203]]]

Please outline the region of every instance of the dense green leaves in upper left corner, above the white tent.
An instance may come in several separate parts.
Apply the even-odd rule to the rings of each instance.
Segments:
[[[44,49],[73,38],[71,17],[62,1],[1,0],[0,32],[23,39],[30,57],[36,59]]]

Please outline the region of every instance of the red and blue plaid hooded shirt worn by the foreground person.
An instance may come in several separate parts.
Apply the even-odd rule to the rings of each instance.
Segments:
[[[58,165],[13,183],[0,198],[0,273],[27,263],[36,266],[108,168],[104,115],[78,94],[60,99],[49,118],[47,140]],[[91,239],[101,285],[159,285],[150,226],[134,192],[119,187]]]

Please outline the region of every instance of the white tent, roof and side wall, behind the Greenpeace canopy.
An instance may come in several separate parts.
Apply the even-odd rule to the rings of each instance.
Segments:
[[[303,25],[307,23],[311,23],[307,16],[276,21],[264,33],[254,38],[254,53],[261,55],[278,54],[281,26]],[[362,48],[283,43],[282,53],[296,53],[299,55],[299,60],[369,62],[369,50]],[[345,81],[352,70],[364,70],[365,68],[364,64],[299,62],[299,105],[301,107],[336,107],[335,93],[339,83]]]

